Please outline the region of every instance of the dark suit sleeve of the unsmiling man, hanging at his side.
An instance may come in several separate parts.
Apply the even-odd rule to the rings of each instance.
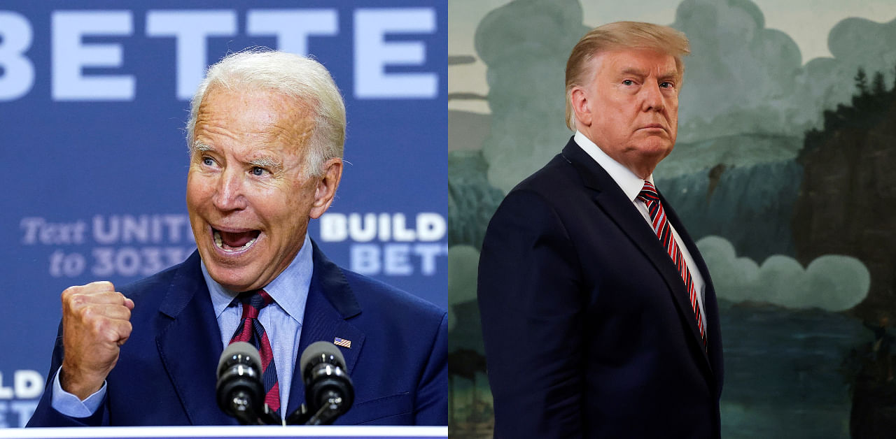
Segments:
[[[556,211],[511,192],[488,225],[478,305],[495,438],[582,437],[580,263]]]

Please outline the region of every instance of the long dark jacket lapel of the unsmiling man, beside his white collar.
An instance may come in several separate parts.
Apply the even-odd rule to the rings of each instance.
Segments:
[[[668,291],[672,294],[672,300],[678,309],[678,316],[684,319],[687,326],[691,329],[691,338],[699,347],[699,351],[702,352],[702,357],[706,361],[706,366],[709,367],[710,360],[706,355],[706,351],[702,349],[700,329],[697,327],[697,321],[694,318],[694,309],[691,308],[691,300],[685,288],[685,283],[682,282],[681,275],[678,274],[675,264],[668,256],[668,253],[666,253],[666,249],[663,249],[662,244],[657,239],[657,235],[650,229],[641,213],[633,206],[632,201],[625,196],[625,192],[619,188],[619,185],[616,184],[607,171],[588,156],[573,139],[570,139],[569,143],[566,144],[563,156],[579,173],[585,187],[593,190],[594,195],[592,199],[594,199],[598,207],[616,223],[619,229],[628,236],[638,249],[641,249],[644,256],[650,260],[650,264],[662,276],[668,286]],[[666,208],[667,212],[671,210],[668,208],[668,204],[664,204],[663,207]],[[677,222],[673,226],[676,227],[676,231],[684,230]],[[682,239],[684,240],[684,238]],[[687,241],[690,242],[690,239],[688,238]],[[692,255],[696,253],[690,245],[688,249]],[[705,277],[708,278],[709,276]]]

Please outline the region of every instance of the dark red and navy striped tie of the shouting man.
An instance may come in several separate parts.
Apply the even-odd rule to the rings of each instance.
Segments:
[[[258,348],[258,353],[262,358],[264,403],[277,416],[280,416],[280,385],[277,383],[277,367],[274,367],[268,333],[264,332],[264,326],[258,321],[258,313],[274,300],[264,290],[241,292],[237,296],[237,300],[243,303],[243,324],[237,327],[230,342],[248,342]]]

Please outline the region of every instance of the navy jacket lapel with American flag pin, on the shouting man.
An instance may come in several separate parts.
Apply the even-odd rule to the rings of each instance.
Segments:
[[[339,266],[323,256],[316,242],[312,240],[311,243],[314,248],[314,272],[311,275],[311,285],[308,287],[305,317],[302,320],[302,333],[299,336],[296,353],[296,370],[293,371],[292,388],[289,389],[288,415],[305,402],[305,384],[298,359],[308,345],[321,341],[332,343],[336,337],[350,341],[350,348],[340,346],[339,350],[345,357],[347,372],[351,376],[365,339],[364,333],[347,321],[350,317],[360,314],[361,307],[349,287],[345,274]]]

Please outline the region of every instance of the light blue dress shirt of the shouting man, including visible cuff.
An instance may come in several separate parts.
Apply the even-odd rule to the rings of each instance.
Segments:
[[[264,287],[273,299],[273,303],[262,309],[258,321],[264,326],[271,341],[274,365],[277,367],[277,381],[280,384],[280,415],[286,418],[289,407],[289,389],[292,385],[293,370],[296,368],[298,342],[302,333],[302,320],[305,317],[305,305],[308,299],[308,288],[311,285],[311,274],[314,273],[311,239],[306,233],[305,241],[298,254],[271,283]],[[243,305],[236,302],[239,291],[229,291],[211,279],[205,263],[202,263],[202,276],[211,294],[211,306],[218,319],[221,332],[221,346],[227,347],[230,338],[237,331]],[[61,369],[62,367],[60,367]],[[106,396],[106,383],[96,393],[81,401],[72,393],[65,392],[59,384],[59,371],[53,378],[52,406],[65,416],[85,418],[99,409],[99,404]]]

